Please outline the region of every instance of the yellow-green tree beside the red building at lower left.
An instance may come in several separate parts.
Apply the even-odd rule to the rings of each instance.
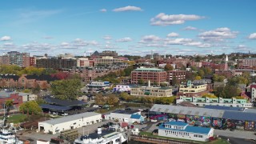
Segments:
[[[29,102],[22,103],[22,105],[19,106],[19,111],[23,113],[36,114],[36,115],[42,113],[42,109],[36,101],[29,101]]]

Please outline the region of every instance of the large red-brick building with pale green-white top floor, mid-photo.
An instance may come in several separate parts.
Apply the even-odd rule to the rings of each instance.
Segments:
[[[166,71],[157,68],[138,68],[131,72],[131,83],[138,83],[140,79],[144,82],[166,82]]]

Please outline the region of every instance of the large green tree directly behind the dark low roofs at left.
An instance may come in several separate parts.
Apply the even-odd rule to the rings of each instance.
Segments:
[[[82,82],[78,78],[54,81],[50,85],[51,94],[63,100],[77,99],[82,95],[81,88]]]

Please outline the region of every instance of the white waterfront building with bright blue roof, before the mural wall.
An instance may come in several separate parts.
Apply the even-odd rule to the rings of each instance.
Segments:
[[[185,122],[165,122],[158,127],[158,135],[206,142],[214,136],[213,128],[189,126]]]

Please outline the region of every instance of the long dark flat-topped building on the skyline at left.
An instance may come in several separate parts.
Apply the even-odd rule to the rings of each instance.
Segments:
[[[41,58],[36,60],[36,66],[54,70],[71,69],[77,66],[77,60],[71,58]]]

